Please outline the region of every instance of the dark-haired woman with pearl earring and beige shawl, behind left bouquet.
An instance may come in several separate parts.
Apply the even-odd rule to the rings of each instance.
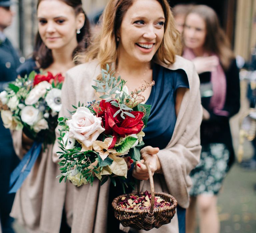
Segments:
[[[53,75],[75,66],[73,58],[88,46],[89,21],[81,0],[39,0],[38,34],[32,59],[18,68],[22,77],[31,71]],[[14,131],[16,154],[22,158],[33,142]],[[59,166],[53,163],[52,144],[42,149],[28,177],[17,191],[11,215],[28,232],[70,232],[72,198],[69,183],[59,184]]]

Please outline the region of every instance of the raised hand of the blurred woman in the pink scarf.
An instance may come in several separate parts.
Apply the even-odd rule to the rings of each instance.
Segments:
[[[192,60],[196,67],[196,72],[198,74],[204,73],[204,72],[212,72],[216,70],[219,61],[216,56],[210,56],[210,57],[197,57]]]

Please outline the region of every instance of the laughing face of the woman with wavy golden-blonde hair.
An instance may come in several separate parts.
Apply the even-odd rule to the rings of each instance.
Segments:
[[[164,36],[164,12],[156,0],[135,0],[118,32],[119,56],[129,62],[150,62]]]

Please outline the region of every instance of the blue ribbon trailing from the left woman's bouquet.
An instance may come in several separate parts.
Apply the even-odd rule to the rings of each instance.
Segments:
[[[33,165],[36,162],[38,155],[41,152],[42,143],[34,142],[30,150],[24,155],[19,165],[13,170],[10,177],[9,193],[16,193],[21,187],[24,180],[27,178]]]

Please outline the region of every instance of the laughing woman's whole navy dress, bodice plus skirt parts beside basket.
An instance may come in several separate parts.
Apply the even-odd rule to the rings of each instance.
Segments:
[[[189,88],[188,78],[184,70],[169,70],[158,64],[153,65],[153,80],[155,85],[151,89],[147,105],[151,105],[147,127],[143,129],[145,136],[143,141],[145,146],[151,145],[164,149],[171,140],[174,126],[176,123],[175,102],[176,90],[180,87]],[[130,177],[132,169],[128,171],[127,177]],[[123,194],[121,185],[117,180],[114,187],[110,184],[109,203],[108,203],[108,232],[121,232],[119,222],[115,219],[112,200]],[[126,193],[132,192],[129,187]],[[178,206],[177,215],[179,222],[179,232],[185,233],[185,209]]]

